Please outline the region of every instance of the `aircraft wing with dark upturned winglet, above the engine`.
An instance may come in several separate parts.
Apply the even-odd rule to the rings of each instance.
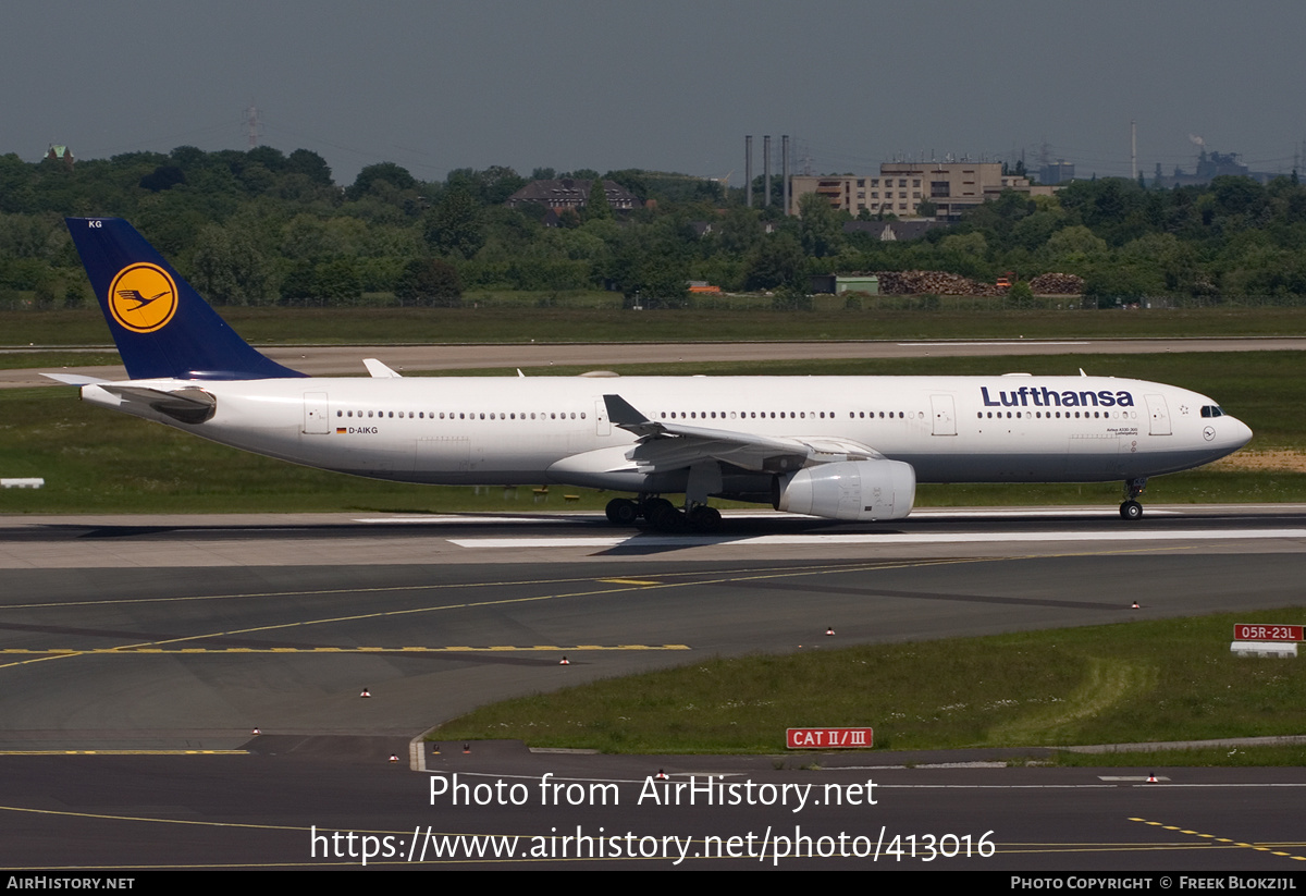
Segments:
[[[603,396],[607,418],[640,439],[626,457],[645,473],[678,470],[704,460],[746,470],[797,470],[812,464],[880,458],[874,448],[840,439],[773,438],[652,421],[620,396]]]

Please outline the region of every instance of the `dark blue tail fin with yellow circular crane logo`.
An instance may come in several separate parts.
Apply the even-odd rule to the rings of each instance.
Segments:
[[[303,376],[255,351],[120,218],[65,218],[133,380]]]

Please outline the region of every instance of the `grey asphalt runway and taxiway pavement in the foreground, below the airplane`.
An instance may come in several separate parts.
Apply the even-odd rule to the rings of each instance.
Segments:
[[[7,517],[0,775],[12,784],[0,865],[360,863],[326,856],[315,827],[390,836],[396,865],[417,856],[414,844],[435,848],[430,825],[543,837],[533,865],[575,865],[547,849],[579,827],[581,837],[631,832],[623,844],[683,836],[695,867],[1290,875],[1306,859],[1301,769],[1174,769],[1144,786],[1134,778],[1148,769],[893,771],[870,768],[884,761],[874,752],[823,755],[820,772],[793,755],[653,760],[513,744],[464,755],[444,744],[423,756],[428,775],[525,781],[524,806],[432,803],[428,775],[406,769],[409,738],[485,701],[695,657],[1299,605],[1303,539],[1298,505],[1148,505],[1139,524],[1114,508],[935,511],[892,525],[748,513],[727,515],[712,537],[614,532],[594,515]],[[389,752],[402,761],[387,763]],[[673,781],[710,772],[757,788],[831,784],[845,795],[875,778],[883,802],[799,812],[640,805],[654,765]],[[546,773],[619,782],[626,802],[545,805],[535,788]],[[232,823],[252,827],[215,827]],[[780,861],[774,837],[764,859],[712,853],[714,836],[760,842],[767,831],[795,842],[802,831],[844,832],[849,844],[868,839],[862,845],[882,833],[884,842],[953,835],[952,856]],[[956,853],[961,837],[978,849],[986,832],[994,854]],[[439,849],[466,845],[449,842]],[[678,867],[640,854],[580,862]]]

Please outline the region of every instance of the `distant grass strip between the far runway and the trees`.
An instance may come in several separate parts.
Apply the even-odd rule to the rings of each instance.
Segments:
[[[755,303],[756,304],[756,303]],[[947,300],[944,307],[947,307]],[[1151,311],[769,311],[613,307],[219,308],[256,345],[1105,338],[1306,334],[1306,308]],[[0,311],[5,346],[108,345],[98,310]]]

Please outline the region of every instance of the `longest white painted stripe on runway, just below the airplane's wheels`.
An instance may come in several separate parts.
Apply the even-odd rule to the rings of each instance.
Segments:
[[[1190,529],[1166,532],[942,532],[942,533],[859,533],[848,536],[755,536],[731,538],[729,536],[660,536],[636,533],[631,536],[588,536],[579,538],[451,538],[460,547],[616,547],[619,545],[663,545],[667,547],[695,545],[713,546],[765,546],[765,545],[983,545],[983,543],[1042,543],[1072,542],[1148,542],[1148,541],[1263,541],[1269,538],[1306,538],[1306,529]]]

